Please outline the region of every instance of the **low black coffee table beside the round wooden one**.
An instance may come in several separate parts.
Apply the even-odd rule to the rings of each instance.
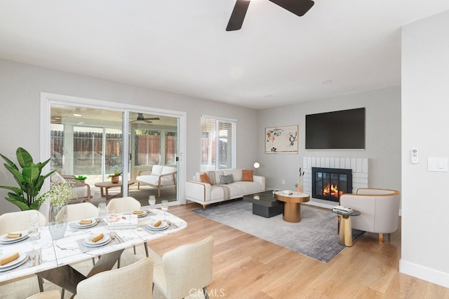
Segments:
[[[276,200],[273,191],[264,191],[243,196],[244,202],[253,204],[253,214],[270,218],[283,213],[283,202]]]

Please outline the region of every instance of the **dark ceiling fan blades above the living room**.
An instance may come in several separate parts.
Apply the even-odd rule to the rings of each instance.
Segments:
[[[274,4],[302,17],[309,9],[314,6],[315,2],[311,0],[269,0]],[[250,0],[237,0],[231,18],[227,23],[226,31],[234,31],[241,29],[243,20],[245,19],[246,11],[250,5]]]

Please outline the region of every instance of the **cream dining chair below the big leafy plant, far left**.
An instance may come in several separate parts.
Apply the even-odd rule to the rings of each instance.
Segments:
[[[33,218],[39,217],[39,226],[46,225],[47,218],[43,216],[40,211],[26,210],[26,211],[13,211],[11,213],[5,213],[0,215],[0,235],[7,234],[8,232],[15,232],[18,230],[27,230],[29,223],[33,222]]]

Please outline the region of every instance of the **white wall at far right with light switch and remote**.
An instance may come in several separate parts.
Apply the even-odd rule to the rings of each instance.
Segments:
[[[400,271],[449,287],[449,12],[402,30],[402,255]],[[410,163],[410,149],[420,163]]]

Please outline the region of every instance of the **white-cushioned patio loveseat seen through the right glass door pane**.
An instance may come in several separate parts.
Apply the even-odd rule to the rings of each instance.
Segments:
[[[176,188],[176,167],[165,165],[153,165],[152,170],[139,172],[135,178],[140,184],[157,188],[157,196],[161,197],[161,188],[172,186]]]

